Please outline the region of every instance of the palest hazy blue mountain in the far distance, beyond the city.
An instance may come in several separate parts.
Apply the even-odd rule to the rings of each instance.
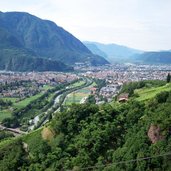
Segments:
[[[117,44],[102,44],[98,42],[83,42],[94,54],[101,55],[103,57],[107,56],[110,62],[125,62],[135,54],[141,54],[143,51],[129,48],[126,46],[121,46]],[[94,48],[95,47],[95,48]],[[97,51],[97,48],[102,53]],[[103,55],[105,54],[105,56]]]

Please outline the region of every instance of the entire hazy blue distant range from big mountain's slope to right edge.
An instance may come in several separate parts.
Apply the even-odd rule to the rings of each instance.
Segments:
[[[84,42],[94,54],[105,57],[110,62],[132,62],[146,64],[171,63],[171,51],[143,52],[117,44]]]

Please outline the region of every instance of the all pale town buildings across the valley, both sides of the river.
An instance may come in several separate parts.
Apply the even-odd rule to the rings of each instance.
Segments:
[[[116,96],[124,83],[142,80],[166,80],[171,71],[171,65],[143,65],[143,64],[115,64],[92,67],[78,63],[77,70],[81,70],[81,76],[89,78],[104,79],[106,86],[102,87],[99,95],[108,101]],[[2,90],[1,97],[31,96],[40,91],[43,85],[55,86],[61,83],[72,82],[79,79],[73,73],[61,72],[0,72],[0,88],[4,84],[15,81],[30,81],[35,85],[29,88],[19,86],[17,89]]]

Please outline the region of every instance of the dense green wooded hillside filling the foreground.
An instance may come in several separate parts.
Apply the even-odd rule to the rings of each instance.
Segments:
[[[72,105],[46,127],[1,142],[0,170],[170,171],[171,91],[154,82],[162,92],[148,101]]]

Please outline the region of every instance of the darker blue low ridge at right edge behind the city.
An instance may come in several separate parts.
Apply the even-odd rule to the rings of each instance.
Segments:
[[[132,57],[133,61],[147,64],[171,64],[171,52],[145,52]]]

